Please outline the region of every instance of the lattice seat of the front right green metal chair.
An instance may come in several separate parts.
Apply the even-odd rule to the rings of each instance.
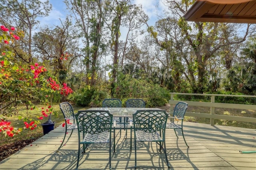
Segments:
[[[136,131],[136,140],[137,141],[155,141],[163,140],[157,132],[145,132],[144,130]]]

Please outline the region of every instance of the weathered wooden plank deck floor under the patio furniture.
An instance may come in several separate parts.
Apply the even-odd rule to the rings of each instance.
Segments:
[[[239,151],[256,150],[256,130],[199,123],[184,123],[185,138],[180,131],[177,139],[174,130],[166,131],[166,147],[170,169],[174,170],[255,170],[256,153],[241,154]],[[0,162],[0,169],[22,170],[70,170],[76,168],[77,132],[58,150],[64,128],[57,127],[49,134]],[[118,132],[118,130],[116,131]],[[130,138],[119,138],[116,152],[112,154],[112,169],[134,169],[134,151],[130,152]],[[129,133],[128,133],[129,135]],[[94,147],[92,147],[94,146]],[[105,145],[89,146],[80,156],[79,169],[108,169],[108,148]],[[155,143],[138,146],[137,169],[165,170],[165,156]]]

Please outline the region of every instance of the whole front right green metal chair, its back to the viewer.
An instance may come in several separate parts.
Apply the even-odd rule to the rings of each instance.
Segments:
[[[165,127],[168,113],[165,110],[138,110],[132,115],[132,118],[135,168],[137,167],[137,142],[156,142],[160,146],[160,150],[162,149],[164,151],[168,168],[170,168],[165,144]]]

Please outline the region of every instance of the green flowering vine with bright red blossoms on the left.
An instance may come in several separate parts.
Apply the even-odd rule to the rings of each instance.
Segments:
[[[6,28],[0,26],[0,43],[10,45],[20,40],[21,32],[17,32],[14,27]],[[62,56],[62,59],[68,59],[68,53]],[[11,122],[0,117],[0,134],[5,136],[14,136],[19,134],[22,129],[33,130],[38,127],[40,120],[55,113],[51,106],[51,99],[54,94],[67,96],[73,93],[72,89],[66,83],[60,85],[55,77],[50,75],[47,69],[39,63],[25,65],[23,63],[13,62],[14,53],[12,51],[0,52],[0,104],[5,109],[12,103],[25,103],[27,109],[36,109],[32,100],[40,100],[46,103],[47,107],[38,109],[42,115],[38,116],[38,120],[24,118],[24,127],[15,128],[11,126]],[[30,107],[29,107],[30,106]],[[1,110],[1,114],[8,114]],[[19,118],[22,119],[22,118]]]

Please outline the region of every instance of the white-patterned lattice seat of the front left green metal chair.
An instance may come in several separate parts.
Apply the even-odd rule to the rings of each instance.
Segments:
[[[81,143],[109,143],[109,136],[110,132],[108,131],[104,131],[102,133],[97,134],[86,133]]]

